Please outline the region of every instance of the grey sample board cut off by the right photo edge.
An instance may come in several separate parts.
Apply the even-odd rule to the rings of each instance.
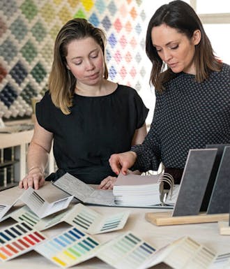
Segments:
[[[229,212],[230,202],[230,147],[224,147],[219,170],[208,204],[207,214]]]

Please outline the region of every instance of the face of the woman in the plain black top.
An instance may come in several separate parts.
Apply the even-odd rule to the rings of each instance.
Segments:
[[[96,85],[104,75],[104,57],[100,45],[91,37],[71,41],[67,45],[67,68],[77,84]]]

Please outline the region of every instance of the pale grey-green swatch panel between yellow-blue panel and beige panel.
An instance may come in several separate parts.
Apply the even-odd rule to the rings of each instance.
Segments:
[[[129,232],[103,245],[97,256],[115,268],[134,269],[154,252],[154,247]]]

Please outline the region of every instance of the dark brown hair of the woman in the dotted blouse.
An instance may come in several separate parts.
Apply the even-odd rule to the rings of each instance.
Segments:
[[[185,34],[187,38],[191,39],[194,31],[201,31],[201,41],[195,45],[194,64],[196,68],[195,79],[197,82],[203,82],[208,78],[210,71],[220,71],[222,62],[215,57],[212,45],[204,31],[204,27],[199,20],[198,15],[193,8],[184,1],[171,1],[158,8],[151,17],[148,23],[146,33],[146,54],[153,64],[151,69],[150,83],[159,92],[164,89],[164,82],[174,78],[176,74],[170,68],[164,71],[164,63],[160,59],[157,50],[153,47],[151,39],[151,31],[153,27],[158,27],[161,24],[176,29],[179,33]],[[164,71],[164,72],[163,72]]]

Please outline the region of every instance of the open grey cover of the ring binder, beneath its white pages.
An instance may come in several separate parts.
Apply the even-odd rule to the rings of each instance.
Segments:
[[[172,205],[167,205],[164,203],[153,203],[151,205],[141,205],[137,203],[134,205],[118,205],[115,203],[114,194],[112,190],[103,190],[103,189],[94,189],[89,184],[82,182],[73,175],[66,173],[58,180],[52,182],[54,186],[59,189],[66,191],[66,193],[75,196],[79,201],[85,204],[91,205],[105,205],[105,206],[114,206],[114,207],[133,207],[133,208],[172,208]],[[176,192],[176,191],[175,191]],[[160,196],[160,191],[158,193],[158,198]],[[165,196],[166,197],[166,196]]]

